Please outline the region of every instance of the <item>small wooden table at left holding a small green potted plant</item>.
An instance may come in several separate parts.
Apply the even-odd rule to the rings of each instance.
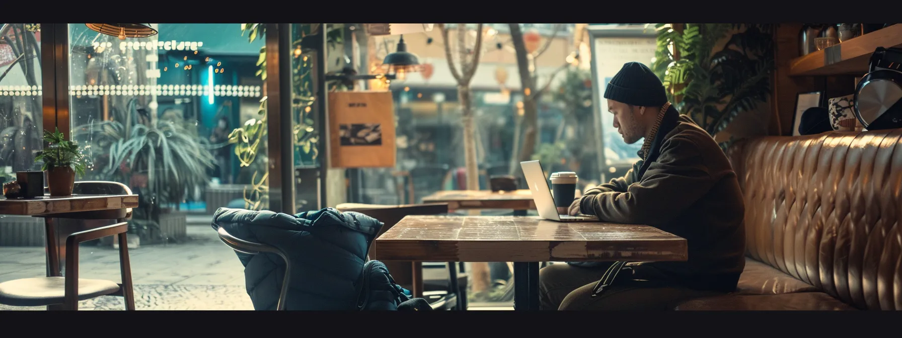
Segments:
[[[138,207],[137,195],[41,196],[27,199],[7,199],[5,196],[0,196],[0,215],[28,215],[44,218],[47,277],[62,277],[60,256],[66,252],[65,237],[75,231],[87,230],[78,229],[60,233],[57,224],[53,223],[53,218],[79,219],[78,213],[87,211],[122,210],[135,207]],[[60,236],[62,236],[61,240]],[[48,306],[49,309],[53,307]]]

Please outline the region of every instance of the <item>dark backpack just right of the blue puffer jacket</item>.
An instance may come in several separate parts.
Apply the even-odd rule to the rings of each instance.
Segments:
[[[357,310],[360,311],[432,310],[426,299],[412,298],[410,290],[395,283],[389,269],[379,260],[369,260],[364,264],[357,286]]]

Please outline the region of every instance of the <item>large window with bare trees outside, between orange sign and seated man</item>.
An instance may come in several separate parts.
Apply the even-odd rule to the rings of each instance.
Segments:
[[[557,27],[556,27],[557,26]],[[475,24],[467,25],[472,44]],[[456,49],[456,25],[449,25],[452,55]],[[528,72],[534,86],[544,89],[533,115],[536,131],[531,158],[548,169],[573,170],[586,181],[597,181],[600,169],[594,160],[596,124],[593,122],[592,78],[589,63],[575,61],[573,24],[524,24],[521,32],[535,43],[527,45]],[[482,58],[470,83],[480,187],[488,188],[493,175],[520,175],[518,155],[525,130],[524,97],[520,91],[517,52],[511,43],[510,25],[483,27]],[[465,187],[464,133],[456,79],[448,68],[441,32],[405,34],[408,50],[419,56],[424,71],[391,82],[398,116],[398,165],[394,169],[363,169],[357,177],[362,187],[359,202],[376,204],[419,203],[437,190]],[[363,55],[378,65],[394,51],[398,35],[368,38]],[[572,65],[571,65],[572,64]],[[568,66],[569,65],[569,66]],[[372,65],[371,65],[372,66]],[[455,66],[460,69],[455,58]],[[370,69],[373,71],[373,69]],[[538,90],[533,89],[533,90]],[[514,169],[511,169],[514,163]],[[353,198],[352,198],[353,199]]]

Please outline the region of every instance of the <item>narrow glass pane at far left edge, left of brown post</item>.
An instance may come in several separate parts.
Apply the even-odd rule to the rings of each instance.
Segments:
[[[0,23],[0,181],[2,182],[15,180],[16,171],[41,170],[41,164],[34,162],[35,152],[43,149],[41,85],[41,24]],[[0,247],[43,247],[43,245],[41,219],[0,215]],[[18,250],[18,248],[9,249]],[[3,252],[3,255],[16,253]],[[38,255],[42,259],[41,252],[43,251]],[[11,270],[6,269],[3,264],[0,264],[0,269]],[[20,277],[4,275],[0,277],[0,282],[15,278]]]

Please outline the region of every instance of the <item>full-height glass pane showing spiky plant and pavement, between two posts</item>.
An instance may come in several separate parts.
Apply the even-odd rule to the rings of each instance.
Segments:
[[[159,33],[124,40],[69,25],[72,134],[89,159],[80,179],[122,182],[141,196],[129,221],[130,241],[140,238],[132,251],[139,309],[151,306],[139,292],[173,283],[184,292],[238,291],[234,300],[197,304],[161,295],[173,300],[152,308],[253,308],[244,269],[210,220],[219,207],[269,207],[264,25],[150,25]]]

